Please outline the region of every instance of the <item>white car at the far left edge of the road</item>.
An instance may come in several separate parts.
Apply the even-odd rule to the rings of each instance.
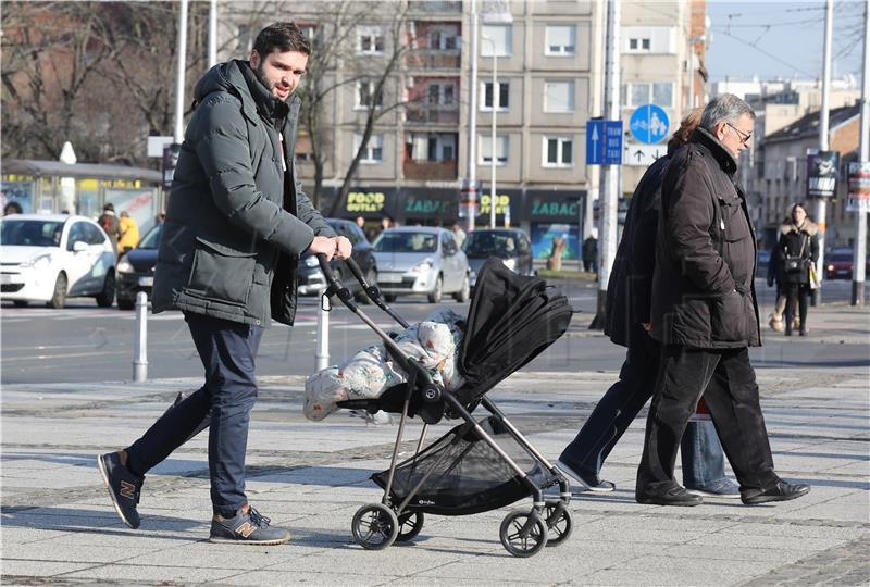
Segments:
[[[0,300],[15,305],[94,297],[102,308],[115,297],[115,253],[102,228],[85,216],[13,214],[0,218]]]

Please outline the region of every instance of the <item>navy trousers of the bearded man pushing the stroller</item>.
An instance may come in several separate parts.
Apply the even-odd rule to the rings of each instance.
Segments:
[[[128,467],[145,475],[181,447],[211,415],[209,476],[215,513],[232,517],[245,496],[245,452],[250,411],[257,400],[254,359],[263,328],[185,313],[206,367],[206,384],[166,411],[127,450]]]

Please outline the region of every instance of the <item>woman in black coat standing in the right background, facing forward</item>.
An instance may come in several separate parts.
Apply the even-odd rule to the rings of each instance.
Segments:
[[[788,221],[780,226],[776,247],[783,276],[783,288],[787,295],[785,303],[785,336],[792,336],[795,305],[800,316],[800,336],[807,334],[807,296],[810,291],[810,264],[819,259],[819,227],[807,216],[803,203],[792,207]]]

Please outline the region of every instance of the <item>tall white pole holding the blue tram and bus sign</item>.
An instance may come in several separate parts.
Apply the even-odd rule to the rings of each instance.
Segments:
[[[605,49],[605,120],[618,121],[620,72],[620,0],[607,2],[607,47]],[[601,209],[598,229],[598,303],[589,328],[604,328],[607,308],[607,284],[617,255],[617,209],[619,204],[620,165],[601,165],[599,202]]]

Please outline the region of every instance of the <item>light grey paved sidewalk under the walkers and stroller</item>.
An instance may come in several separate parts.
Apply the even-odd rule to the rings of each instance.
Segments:
[[[846,316],[845,310],[830,312]],[[841,326],[854,326],[849,336],[867,341],[868,315],[859,311]],[[813,336],[835,333],[820,326]],[[489,397],[555,458],[614,376],[518,373]],[[754,508],[714,499],[697,508],[637,504],[638,419],[604,471],[618,490],[573,500],[573,536],[531,559],[510,557],[499,542],[509,509],[426,516],[412,544],[362,550],[350,521],[360,505],[380,499],[369,475],[387,466],[396,426],[366,426],[344,412],[304,421],[301,377],[261,382],[249,440],[251,502],[294,533],[279,547],[207,541],[206,434],[148,475],[138,530],[112,509],[95,455],[134,439],[198,379],[4,386],[2,583],[867,585],[868,366],[762,366],[758,377],[776,470],[811,484],[808,496]],[[430,439],[449,427],[436,426]],[[408,450],[419,429],[411,424]]]

